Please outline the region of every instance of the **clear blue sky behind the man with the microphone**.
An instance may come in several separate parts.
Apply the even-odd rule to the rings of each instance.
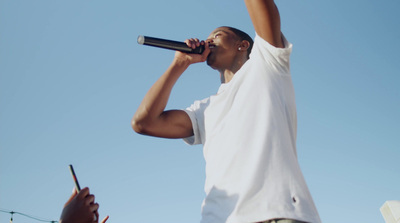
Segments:
[[[320,216],[383,223],[379,208],[400,200],[400,2],[276,3],[294,44],[299,161]],[[202,147],[131,130],[174,55],[136,38],[205,38],[221,25],[254,36],[243,1],[0,0],[0,209],[58,220],[73,164],[110,223],[199,222]],[[168,108],[218,85],[196,64]]]

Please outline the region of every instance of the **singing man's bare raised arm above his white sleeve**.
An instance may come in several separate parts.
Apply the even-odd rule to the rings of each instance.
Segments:
[[[273,0],[245,0],[247,10],[257,34],[275,47],[284,47],[281,20]]]

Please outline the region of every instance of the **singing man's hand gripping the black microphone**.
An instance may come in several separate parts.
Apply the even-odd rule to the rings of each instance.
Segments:
[[[175,53],[176,61],[187,63],[190,65],[194,63],[205,62],[207,60],[208,54],[210,54],[209,43],[207,41],[200,41],[199,39],[192,38],[185,40],[185,43],[192,49],[195,49],[196,47],[203,45],[204,51],[202,54],[182,53],[180,51],[176,51]]]

